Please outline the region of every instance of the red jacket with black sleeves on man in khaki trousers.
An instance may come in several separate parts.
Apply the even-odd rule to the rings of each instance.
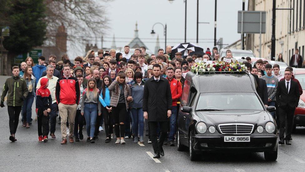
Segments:
[[[71,76],[59,78],[56,83],[55,96],[57,104],[73,105],[79,103],[80,88],[78,79]]]

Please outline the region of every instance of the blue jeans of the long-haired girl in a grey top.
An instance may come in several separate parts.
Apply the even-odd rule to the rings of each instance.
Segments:
[[[94,137],[95,122],[98,115],[98,104],[96,103],[85,103],[84,116],[86,119],[86,130],[88,137]]]

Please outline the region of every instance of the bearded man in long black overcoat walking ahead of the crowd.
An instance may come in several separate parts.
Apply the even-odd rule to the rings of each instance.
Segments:
[[[162,77],[161,66],[155,64],[153,65],[153,77],[145,81],[143,93],[143,116],[148,120],[150,138],[155,153],[153,158],[164,156],[162,145],[167,135],[167,121],[172,115],[172,102],[169,82]],[[158,124],[161,128],[159,142],[157,141]]]

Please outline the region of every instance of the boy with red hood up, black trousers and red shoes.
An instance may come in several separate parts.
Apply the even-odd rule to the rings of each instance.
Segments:
[[[37,128],[38,141],[47,142],[47,135],[49,134],[49,112],[51,111],[52,97],[47,78],[41,78],[40,87],[36,90],[36,113],[37,113]]]

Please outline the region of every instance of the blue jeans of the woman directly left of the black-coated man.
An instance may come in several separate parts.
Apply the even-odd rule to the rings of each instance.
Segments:
[[[143,108],[131,108],[131,119],[132,119],[132,130],[135,137],[143,136],[144,130],[144,117],[143,117]]]

